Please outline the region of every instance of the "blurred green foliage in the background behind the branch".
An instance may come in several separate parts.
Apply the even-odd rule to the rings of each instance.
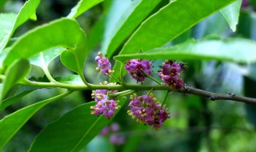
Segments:
[[[3,7],[3,11],[18,12],[22,6],[19,0],[9,0]],[[22,25],[14,36],[23,34],[37,24],[52,21],[56,18],[66,16],[70,9],[78,1],[70,0],[44,0],[37,10],[38,22],[28,21]],[[232,32],[230,27],[220,13],[213,14],[206,20],[198,23],[191,30],[174,39],[173,44],[184,42],[188,38],[202,38],[208,34],[218,34],[222,38],[242,37],[256,40],[256,1],[251,0],[251,5],[242,7],[240,12],[237,31]],[[111,5],[110,0],[106,0],[98,6],[82,14],[78,18],[80,26],[89,35],[90,57],[86,67],[86,78],[90,82],[102,82],[102,78],[95,78],[98,74],[94,71],[93,63],[95,53],[98,52],[102,41],[103,24],[106,22],[106,14]],[[0,5],[1,7],[1,5]],[[218,24],[216,24],[218,22]],[[92,43],[93,42],[93,43]],[[9,44],[10,45],[10,44]],[[207,48],[206,48],[207,49]],[[154,61],[162,62],[162,61]],[[248,69],[248,66],[236,65],[230,62],[201,62],[185,61],[189,70],[184,75],[188,86],[195,86],[203,90],[214,92],[234,92],[239,95],[256,97],[255,74]],[[156,68],[157,69],[157,68]],[[50,64],[50,71],[54,76],[64,76],[71,74],[64,70],[57,59]],[[246,71],[246,72],[245,72]],[[31,75],[42,77],[42,70],[34,68]],[[246,75],[246,76],[245,76]],[[249,79],[250,78],[250,79]],[[36,90],[28,96],[8,107],[5,111],[0,111],[0,118],[14,112],[31,103],[41,101],[51,96],[59,94],[61,90]],[[49,122],[65,114],[68,110],[84,102],[90,102],[90,91],[77,92],[64,98],[62,102],[54,102],[44,107],[22,127],[4,146],[1,152],[18,151],[23,152],[29,149],[30,144],[36,134],[42,130]],[[164,94],[157,94],[158,100],[162,101]],[[34,99],[33,101],[31,99]],[[107,138],[96,137],[86,146],[82,152],[88,151],[225,151],[225,152],[254,152],[256,150],[256,117],[255,106],[245,105],[240,102],[230,101],[210,101],[206,98],[199,98],[187,94],[171,94],[167,99],[166,106],[170,111],[170,119],[161,130],[155,131],[149,126],[136,123],[127,116],[127,106],[121,110],[113,122],[118,122],[121,126],[120,134],[126,138],[126,143],[122,146],[114,146]]]

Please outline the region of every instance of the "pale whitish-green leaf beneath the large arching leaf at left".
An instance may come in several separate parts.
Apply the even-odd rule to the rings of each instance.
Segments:
[[[42,67],[42,65],[47,67],[49,66],[50,62],[54,60],[54,58],[57,58],[60,54],[62,54],[63,50],[66,50],[66,48],[56,47],[45,50],[40,54],[36,54],[34,57],[30,58],[30,63],[38,67]]]

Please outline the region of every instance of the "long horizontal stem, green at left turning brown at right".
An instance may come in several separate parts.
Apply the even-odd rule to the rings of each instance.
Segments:
[[[233,100],[237,102],[245,102],[250,104],[256,104],[256,98],[248,98],[248,97],[238,97],[235,94],[217,94],[213,92],[209,92],[206,90],[199,90],[193,87],[185,86],[181,90],[172,90],[170,86],[152,86],[152,85],[129,85],[126,86],[122,85],[70,85],[70,84],[64,84],[64,83],[51,83],[51,82],[30,82],[29,80],[25,80],[23,82],[20,82],[19,85],[22,86],[38,86],[42,88],[66,88],[70,90],[151,90],[152,88],[154,90],[169,90],[169,91],[175,91],[179,93],[185,93],[185,94],[195,94],[201,97],[209,98],[210,100]]]

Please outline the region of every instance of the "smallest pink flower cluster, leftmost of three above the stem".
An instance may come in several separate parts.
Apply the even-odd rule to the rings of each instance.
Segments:
[[[102,58],[102,53],[98,52],[98,56],[95,58],[95,61],[98,63],[97,71],[102,71],[102,74],[108,75],[113,73],[111,70],[110,60],[106,57]]]

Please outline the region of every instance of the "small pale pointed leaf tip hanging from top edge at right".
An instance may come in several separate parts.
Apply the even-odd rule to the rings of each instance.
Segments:
[[[226,18],[226,22],[230,25],[231,30],[235,32],[237,29],[240,7],[242,5],[242,0],[237,0],[236,2],[226,6],[221,10],[222,15]]]

